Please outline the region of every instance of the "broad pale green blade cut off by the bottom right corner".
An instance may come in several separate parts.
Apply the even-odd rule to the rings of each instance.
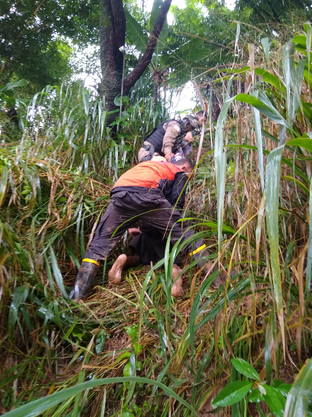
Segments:
[[[307,359],[300,369],[287,395],[284,417],[305,416],[312,394],[312,359]]]

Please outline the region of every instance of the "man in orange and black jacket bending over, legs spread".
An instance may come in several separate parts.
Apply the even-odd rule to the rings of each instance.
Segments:
[[[182,234],[183,240],[193,235],[186,222],[183,224],[184,231],[181,231],[182,217],[179,212],[184,205],[186,181],[193,168],[188,159],[176,164],[146,161],[121,175],[111,190],[111,200],[82,260],[70,298],[77,300],[87,294],[100,263],[109,256],[124,232],[138,220],[153,226],[165,238],[171,231],[171,244],[175,244]],[[204,246],[201,239],[193,243],[194,259],[200,257]],[[191,252],[192,244],[186,244],[184,251]]]

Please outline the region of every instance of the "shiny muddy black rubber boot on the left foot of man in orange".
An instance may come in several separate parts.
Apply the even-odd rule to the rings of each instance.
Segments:
[[[96,261],[94,261],[96,262]],[[93,284],[94,278],[99,270],[99,263],[96,264],[88,261],[82,261],[77,277],[75,279],[74,288],[69,294],[73,301],[84,298],[87,295],[89,287]]]

